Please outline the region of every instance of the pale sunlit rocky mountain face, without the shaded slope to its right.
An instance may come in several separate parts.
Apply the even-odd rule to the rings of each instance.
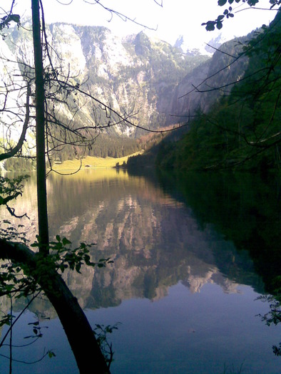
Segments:
[[[5,41],[16,61],[32,65],[31,25],[9,29]],[[131,121],[148,129],[169,125],[170,113],[166,103],[170,93],[206,56],[188,56],[180,48],[170,46],[145,33],[118,38],[108,28],[50,24],[48,43],[53,66],[83,89],[118,113],[132,113]],[[2,42],[4,43],[4,42]],[[81,97],[78,99],[81,100]],[[84,100],[75,120],[85,123],[108,123],[108,113],[98,113],[99,104]],[[61,115],[71,118],[67,108]],[[114,116],[113,116],[114,117]],[[138,128],[117,125],[107,133],[138,137]]]

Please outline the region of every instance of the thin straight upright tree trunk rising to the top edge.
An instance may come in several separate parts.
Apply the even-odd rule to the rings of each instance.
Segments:
[[[48,209],[45,162],[45,91],[39,0],[31,0],[34,38],[35,108],[36,108],[36,172],[38,225],[41,251],[48,251]]]

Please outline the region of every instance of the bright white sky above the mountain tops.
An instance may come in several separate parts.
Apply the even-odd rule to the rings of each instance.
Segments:
[[[83,0],[42,0],[46,23],[56,21],[71,24],[106,26],[113,33],[127,35],[138,33],[143,27],[136,26],[130,21],[122,21],[117,16],[104,11],[98,4],[86,4]],[[88,3],[95,1],[87,0]],[[157,0],[160,3],[160,0]],[[17,0],[19,14],[27,15],[30,12],[31,0]],[[69,4],[71,3],[71,4]],[[153,0],[101,0],[108,8],[119,11],[137,22],[145,24],[157,31],[149,31],[150,36],[155,36],[168,43],[175,43],[178,36],[183,35],[190,46],[210,41],[216,34],[205,31],[201,24],[205,21],[216,19],[222,14],[226,5],[218,6],[218,0],[163,0],[163,7],[155,4]],[[9,9],[11,0],[1,0],[0,7]],[[63,5],[65,4],[65,5]],[[68,4],[68,5],[67,5]],[[268,8],[269,0],[260,0],[260,8]],[[5,7],[6,6],[6,7]],[[237,4],[233,2],[233,9]],[[237,10],[242,6],[237,6]],[[247,9],[235,14],[233,19],[225,20],[220,32],[225,38],[246,35],[253,29],[269,24],[276,11]],[[111,19],[110,22],[108,22]],[[147,30],[148,32],[148,30]]]

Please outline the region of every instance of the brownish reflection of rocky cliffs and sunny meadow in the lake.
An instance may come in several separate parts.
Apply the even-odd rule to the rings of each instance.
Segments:
[[[246,254],[237,254],[211,227],[198,227],[190,209],[143,177],[88,170],[50,176],[48,193],[50,232],[74,244],[95,242],[93,259],[114,260],[102,271],[65,275],[83,307],[116,306],[133,297],[154,300],[178,281],[192,292],[207,283],[225,292],[235,292],[237,283],[259,284]]]

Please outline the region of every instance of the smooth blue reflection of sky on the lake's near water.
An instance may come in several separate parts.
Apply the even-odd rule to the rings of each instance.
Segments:
[[[254,301],[257,294],[250,287],[240,286],[239,291],[225,294],[219,286],[208,284],[200,294],[190,294],[177,284],[158,301],[135,298],[116,308],[86,313],[92,326],[121,323],[111,336],[112,374],[214,374],[223,373],[224,364],[236,371],[242,364],[242,373],[279,374],[280,359],[271,346],[279,342],[280,326],[269,328],[256,316],[266,313],[268,305]],[[22,321],[16,335],[30,335],[27,323],[34,319],[26,313]],[[56,358],[31,366],[14,363],[13,373],[78,373],[73,358],[68,358],[71,352],[58,321],[41,322],[47,325],[44,338],[34,347],[14,349],[14,358],[36,359],[44,348],[52,349]],[[15,343],[21,341],[17,339]],[[6,373],[4,363],[8,365],[0,358]]]

